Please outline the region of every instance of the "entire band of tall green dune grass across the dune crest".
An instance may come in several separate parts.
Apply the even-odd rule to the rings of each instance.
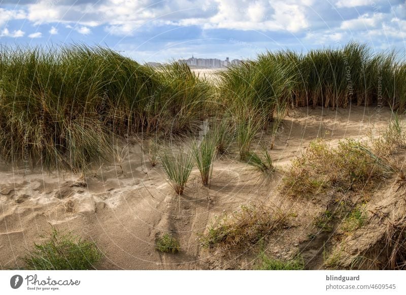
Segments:
[[[357,43],[265,52],[218,77],[212,85],[184,63],[153,68],[103,47],[2,46],[0,158],[25,168],[99,167],[114,156],[113,136],[185,134],[225,116],[235,124],[219,125],[218,152],[226,152],[234,125],[243,159],[269,124],[273,148],[292,105],[406,107],[401,57]]]

